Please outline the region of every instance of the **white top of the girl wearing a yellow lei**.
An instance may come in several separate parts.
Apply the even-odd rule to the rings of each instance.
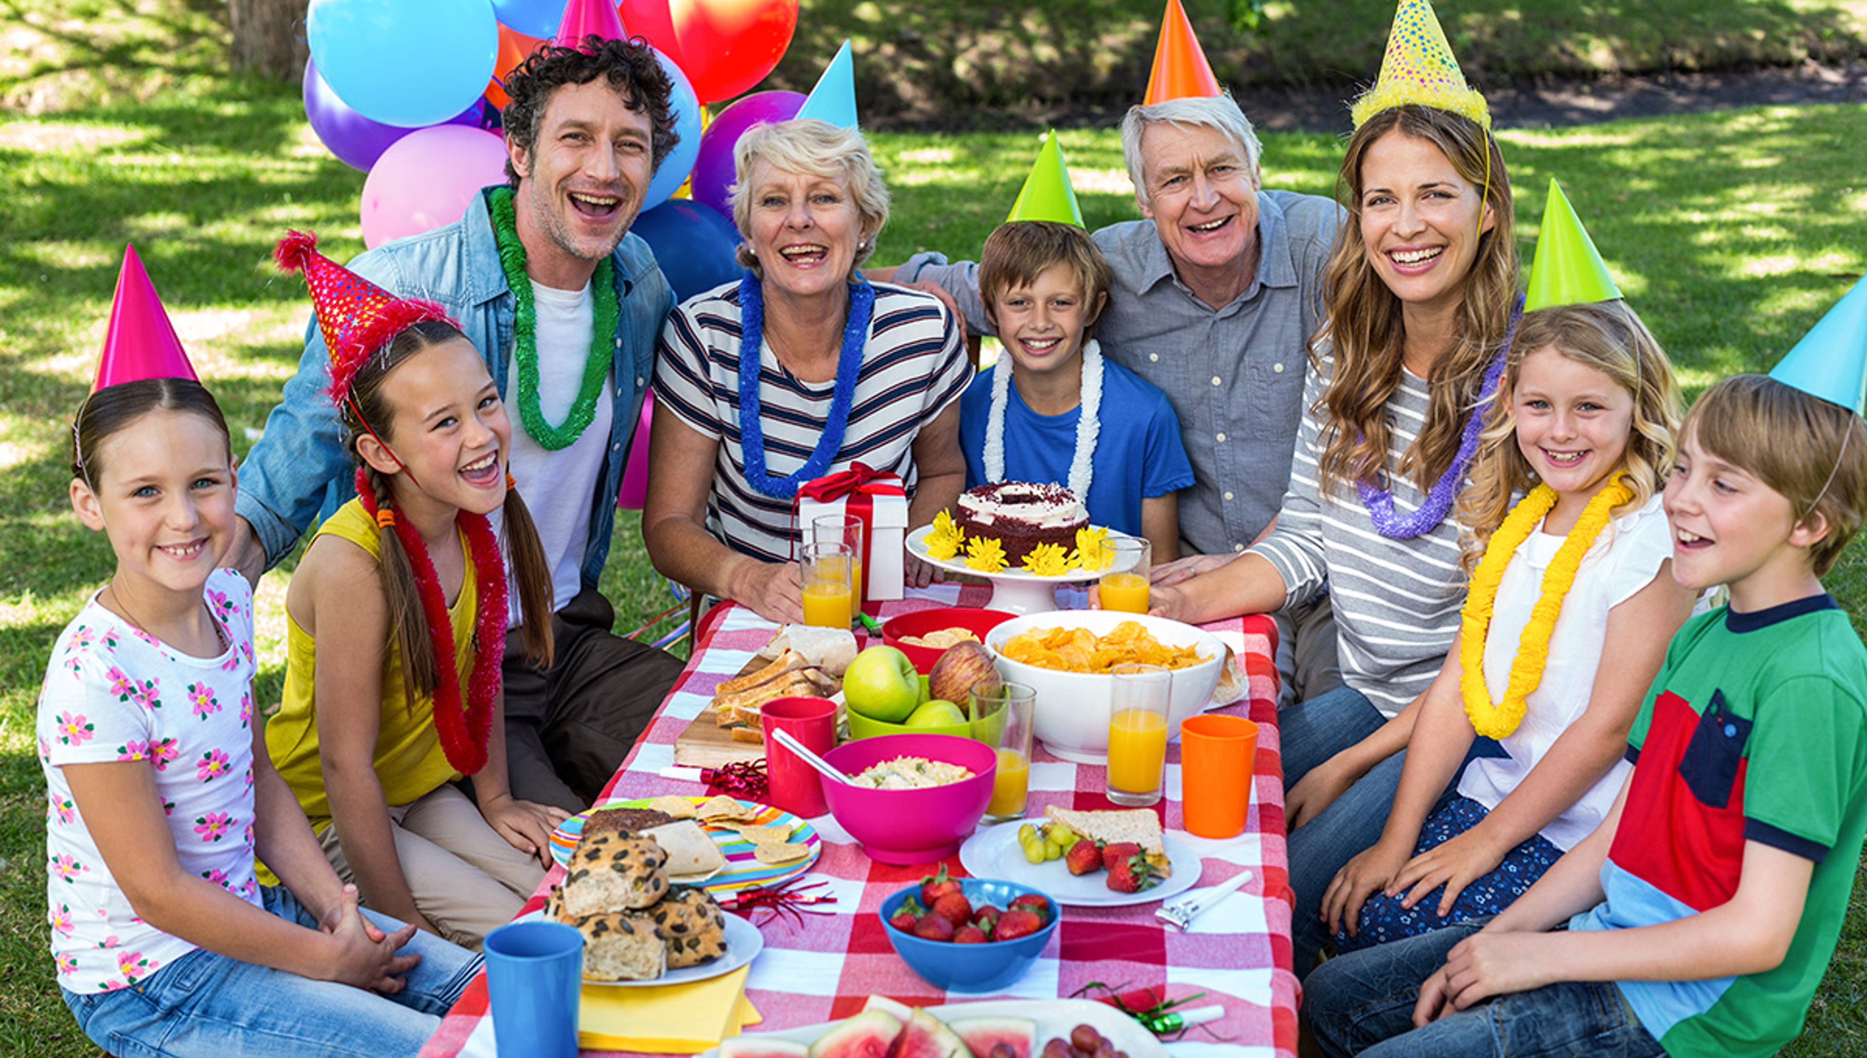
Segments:
[[[1492,702],[1503,700],[1523,625],[1542,597],[1542,575],[1565,539],[1540,532],[1538,526],[1538,532],[1518,545],[1510,565],[1505,567],[1490,634],[1484,638],[1484,685]],[[1510,756],[1471,761],[1458,782],[1458,793],[1486,808],[1497,808],[1550,752],[1555,739],[1587,711],[1594,670],[1607,642],[1607,612],[1650,584],[1667,558],[1673,558],[1673,530],[1667,526],[1665,511],[1660,509],[1660,496],[1609,522],[1581,558],[1576,582],[1563,599],[1555,634],[1550,636],[1550,662],[1542,670],[1542,683],[1529,692],[1523,722],[1499,739]],[[1542,836],[1563,851],[1587,838],[1613,808],[1615,795],[1632,767],[1624,759],[1615,761],[1615,767],[1607,769],[1607,774],[1576,804],[1542,828]]]

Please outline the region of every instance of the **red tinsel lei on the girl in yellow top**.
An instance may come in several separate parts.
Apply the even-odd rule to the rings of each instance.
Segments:
[[[370,476],[357,468],[357,498],[362,509],[375,517],[375,491]],[[448,763],[461,774],[476,774],[485,767],[485,741],[493,731],[493,700],[500,687],[500,662],[506,655],[506,562],[498,552],[498,537],[485,515],[459,511],[454,515],[467,532],[467,558],[474,567],[476,606],[472,675],[467,703],[461,703],[459,659],[454,653],[454,623],[448,619],[446,599],[435,564],[428,558],[422,534],[407,519],[396,519],[396,539],[409,552],[414,567],[414,588],[422,595],[422,614],[428,618],[428,642],[435,647],[435,731]]]

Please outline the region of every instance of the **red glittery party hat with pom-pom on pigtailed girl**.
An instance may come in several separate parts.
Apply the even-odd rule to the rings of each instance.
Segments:
[[[401,328],[429,319],[454,323],[439,304],[396,297],[325,258],[317,252],[317,235],[288,231],[273,258],[288,272],[304,272],[304,285],[312,287],[317,330],[330,347],[327,392],[332,403],[344,401],[357,368]]]

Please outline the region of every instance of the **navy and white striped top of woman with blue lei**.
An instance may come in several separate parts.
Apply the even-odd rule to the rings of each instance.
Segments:
[[[739,284],[715,287],[668,313],[655,351],[655,411],[668,411],[711,440],[719,440],[706,524],[743,554],[765,562],[792,560],[797,519],[792,500],[754,491],[745,478],[739,442]],[[795,472],[829,422],[835,383],[805,383],[792,375],[767,341],[758,351],[760,427],[765,468],[782,478]],[[909,289],[876,284],[863,368],[842,446],[827,472],[866,463],[900,474],[915,494],[913,444],[920,427],[960,399],[973,381],[960,328],[939,300]]]

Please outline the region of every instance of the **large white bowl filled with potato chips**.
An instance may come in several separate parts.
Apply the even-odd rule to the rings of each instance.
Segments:
[[[1212,707],[1225,644],[1193,625],[1115,610],[1025,614],[986,634],[999,674],[1036,694],[1034,733],[1044,748],[1077,763],[1109,756],[1109,672],[1116,664],[1158,664],[1172,672],[1167,737]]]

